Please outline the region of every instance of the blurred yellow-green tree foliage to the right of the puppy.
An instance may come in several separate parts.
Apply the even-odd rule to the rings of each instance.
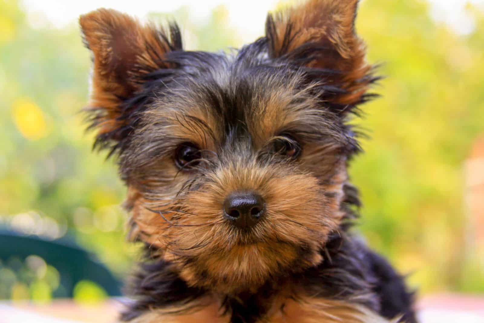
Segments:
[[[484,20],[469,14],[469,35],[431,20],[422,1],[364,1],[358,17],[369,59],[383,61],[387,76],[375,88],[382,98],[356,121],[372,137],[351,169],[362,230],[423,291],[459,290],[470,274],[462,167],[484,130]],[[484,277],[475,278],[474,290],[484,291]]]

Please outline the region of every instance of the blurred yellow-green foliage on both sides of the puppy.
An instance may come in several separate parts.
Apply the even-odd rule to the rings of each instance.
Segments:
[[[484,130],[484,16],[469,14],[469,35],[434,22],[418,0],[363,1],[357,21],[369,60],[383,62],[387,76],[375,88],[383,97],[354,120],[372,137],[351,167],[363,196],[360,230],[423,292],[484,292],[483,259],[465,243],[463,163]],[[190,48],[242,45],[224,7],[201,23],[187,8],[174,16]],[[115,164],[91,153],[78,113],[90,57],[77,26],[33,28],[17,2],[0,0],[0,61],[0,224],[49,238],[71,233],[123,276],[137,247],[123,242]],[[0,264],[0,297],[49,299],[55,268],[41,265],[23,279]],[[89,282],[77,291],[81,300],[105,296]]]

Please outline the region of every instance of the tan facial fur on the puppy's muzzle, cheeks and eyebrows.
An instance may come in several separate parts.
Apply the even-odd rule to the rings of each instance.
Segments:
[[[277,92],[266,99],[257,98],[258,105],[255,103],[254,109],[269,115],[260,116],[261,122],[269,124],[273,116],[272,127],[265,132],[256,122],[247,122],[258,140],[255,145],[260,149],[287,124],[305,122],[307,116],[302,115],[301,105],[310,107],[312,102],[308,99],[301,103],[306,96],[302,91],[293,96],[298,99],[299,106],[292,105],[290,93],[293,90],[291,85],[287,86],[289,95]],[[262,105],[267,102],[270,104]],[[147,114],[150,119],[147,127],[156,124],[157,118],[163,118],[173,123],[170,131],[177,136],[202,149],[212,150],[216,144],[213,139],[217,138],[201,136],[200,132],[182,126],[175,116],[176,110],[173,116],[153,110]],[[305,112],[308,110],[304,108]],[[203,111],[188,104],[183,113],[202,119],[213,133],[221,132],[217,130],[216,118]],[[256,114],[255,119],[258,117]],[[136,181],[136,186],[129,186],[127,205],[132,212],[131,237],[159,247],[162,250],[159,253],[166,260],[179,264],[180,275],[189,285],[220,292],[236,292],[242,286],[256,290],[279,268],[296,266],[303,270],[319,264],[322,261],[319,251],[328,233],[338,227],[343,217],[339,208],[348,176],[346,160],[338,157],[335,149],[337,145],[331,141],[325,146],[305,145],[301,163],[307,172],[296,174],[289,166],[261,166],[255,156],[251,161],[234,157],[230,165],[211,173],[207,184],[178,197],[176,193],[191,174],[178,172],[170,158],[159,160],[150,168],[159,168],[166,181],[156,178],[151,183],[145,176]],[[177,180],[172,180],[175,176]],[[325,185],[321,185],[322,179]],[[266,220],[259,223],[250,236],[240,235],[222,217],[227,195],[244,190],[261,194],[267,208]],[[334,197],[328,198],[323,192],[332,192]],[[307,258],[297,264],[294,263],[299,256],[296,246],[311,250]],[[186,257],[194,261],[185,264],[182,260]]]

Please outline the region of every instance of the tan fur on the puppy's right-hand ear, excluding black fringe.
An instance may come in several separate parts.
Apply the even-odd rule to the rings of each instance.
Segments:
[[[365,45],[354,30],[357,4],[358,0],[309,0],[274,15],[277,38],[272,43],[273,56],[280,57],[307,43],[335,50],[322,52],[310,66],[345,72],[343,78],[334,80],[348,91],[338,98],[341,104],[358,102],[369,86],[363,79],[371,66],[365,61]],[[291,41],[285,47],[288,28],[292,28]]]

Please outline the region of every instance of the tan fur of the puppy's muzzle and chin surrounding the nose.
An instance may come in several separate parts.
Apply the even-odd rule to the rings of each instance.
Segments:
[[[296,264],[298,268],[318,264],[326,235],[340,220],[331,216],[338,201],[319,193],[316,177],[280,173],[284,172],[256,163],[235,163],[214,174],[210,184],[184,196],[178,202],[183,213],[167,211],[163,217],[146,207],[147,200],[132,194],[137,197],[130,202],[133,219],[142,239],[165,250],[167,260],[195,259],[179,268],[190,285],[224,292],[239,286],[257,289],[278,268],[293,264],[298,256],[295,246],[303,244],[313,250],[312,256]],[[267,220],[250,237],[234,231],[221,216],[223,200],[236,190],[255,190],[266,201]],[[201,269],[208,272],[208,278],[200,279]]]

